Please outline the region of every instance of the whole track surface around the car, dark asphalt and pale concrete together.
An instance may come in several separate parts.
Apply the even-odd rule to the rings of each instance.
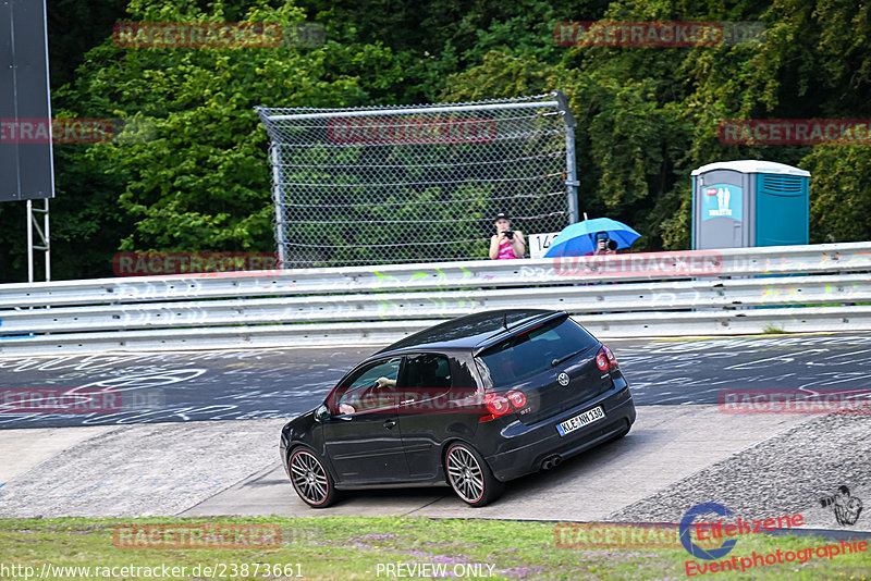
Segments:
[[[376,348],[0,359],[0,388],[112,387],[160,403],[118,413],[0,413],[0,517],[676,522],[716,502],[745,519],[801,514],[806,530],[871,531],[871,416],[729,415],[716,405],[721,390],[866,390],[871,333],[608,344],[638,407],[629,435],[513,481],[481,509],[447,489],[360,491],[318,511],[293,493],[278,458],[281,425]],[[866,505],[851,526],[820,503],[839,485]]]

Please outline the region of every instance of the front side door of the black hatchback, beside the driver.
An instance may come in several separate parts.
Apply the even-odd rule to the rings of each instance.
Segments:
[[[327,456],[342,484],[408,480],[396,418],[395,382],[402,357],[371,361],[343,380],[328,399]],[[379,379],[392,385],[373,390]]]

